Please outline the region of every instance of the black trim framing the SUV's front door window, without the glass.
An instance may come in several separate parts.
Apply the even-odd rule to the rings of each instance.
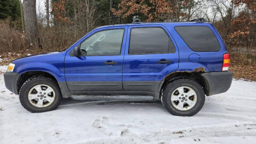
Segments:
[[[96,31],[95,33],[91,34],[90,36],[86,37],[82,42],[80,42],[78,45],[78,52],[80,52],[80,46],[81,46],[81,43],[83,43],[84,41],[86,41],[87,38],[91,37],[92,35],[94,34],[97,34],[101,31],[106,31],[106,30],[116,30],[116,29],[123,29],[123,37],[122,37],[122,43],[121,43],[121,46],[120,46],[120,51],[119,51],[119,55],[121,55],[121,51],[122,51],[122,45],[123,45],[123,41],[124,41],[124,33],[125,33],[125,28],[113,28],[113,29],[102,29],[102,30],[98,30]],[[74,50],[74,49],[73,49]],[[116,54],[113,54],[113,55],[77,55],[77,57],[92,57],[92,56],[114,56]],[[118,55],[117,55],[118,56]]]

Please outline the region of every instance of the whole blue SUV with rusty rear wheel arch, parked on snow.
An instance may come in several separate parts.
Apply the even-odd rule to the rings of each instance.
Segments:
[[[4,80],[33,113],[72,97],[162,100],[172,115],[192,116],[205,95],[229,89],[228,67],[226,46],[209,22],[135,22],[98,27],[61,52],[14,60]]]

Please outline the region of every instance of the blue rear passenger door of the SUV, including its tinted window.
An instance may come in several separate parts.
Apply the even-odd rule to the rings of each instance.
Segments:
[[[125,47],[124,91],[157,92],[163,78],[178,70],[177,45],[162,25],[129,26]]]

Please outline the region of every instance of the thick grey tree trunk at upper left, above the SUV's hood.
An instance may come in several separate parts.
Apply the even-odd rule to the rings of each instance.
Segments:
[[[29,47],[38,46],[39,48],[42,48],[37,29],[36,0],[23,0],[22,4],[27,44]]]

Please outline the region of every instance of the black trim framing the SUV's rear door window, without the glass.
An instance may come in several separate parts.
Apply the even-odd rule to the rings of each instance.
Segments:
[[[175,48],[175,49],[174,49],[174,52],[132,53],[132,54],[130,54],[129,52],[130,52],[130,42],[131,42],[131,34],[132,34],[131,32],[132,32],[132,29],[138,29],[138,28],[161,28],[161,29],[163,29],[164,32],[165,32],[165,34],[170,38],[170,40],[172,41],[172,43],[173,43],[173,45],[174,45],[174,48]],[[168,47],[168,50],[169,50],[169,47]],[[175,46],[175,44],[174,44],[172,38],[169,36],[169,34],[167,33],[167,31],[166,31],[163,27],[161,27],[161,26],[157,26],[157,27],[153,26],[153,27],[132,27],[132,28],[130,28],[129,47],[128,47],[128,52],[127,52],[128,55],[167,54],[167,53],[175,53],[175,52],[176,52],[176,46]]]

